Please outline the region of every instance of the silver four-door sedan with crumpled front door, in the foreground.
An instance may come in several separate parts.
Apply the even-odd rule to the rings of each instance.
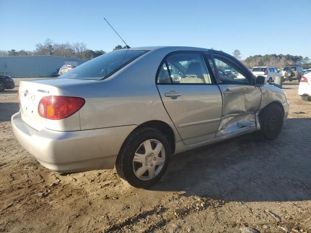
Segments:
[[[191,47],[109,52],[59,78],[20,82],[18,100],[13,131],[41,165],[116,166],[135,187],[159,180],[172,154],[254,131],[273,140],[289,111],[282,89],[234,57]]]

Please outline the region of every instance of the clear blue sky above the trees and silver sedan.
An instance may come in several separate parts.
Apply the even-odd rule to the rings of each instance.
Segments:
[[[92,50],[193,46],[311,58],[311,0],[0,0],[0,50],[34,50],[46,38]]]

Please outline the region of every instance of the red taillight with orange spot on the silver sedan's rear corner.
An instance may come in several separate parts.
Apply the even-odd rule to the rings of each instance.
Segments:
[[[76,113],[85,102],[80,97],[45,96],[39,101],[38,113],[47,119],[60,120]]]

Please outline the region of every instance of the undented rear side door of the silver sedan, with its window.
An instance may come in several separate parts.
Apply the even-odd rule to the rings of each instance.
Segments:
[[[164,107],[186,145],[215,138],[219,127],[222,95],[210,72],[198,51],[167,55],[157,72]]]

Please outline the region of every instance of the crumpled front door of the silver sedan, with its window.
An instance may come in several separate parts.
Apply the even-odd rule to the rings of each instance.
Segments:
[[[240,74],[239,79],[228,80],[222,79],[217,75],[218,72],[215,72],[223,96],[221,123],[216,137],[254,129],[261,91],[255,86],[253,75],[241,62],[223,52],[213,51],[212,57],[213,59],[208,60],[212,70],[230,69]]]

